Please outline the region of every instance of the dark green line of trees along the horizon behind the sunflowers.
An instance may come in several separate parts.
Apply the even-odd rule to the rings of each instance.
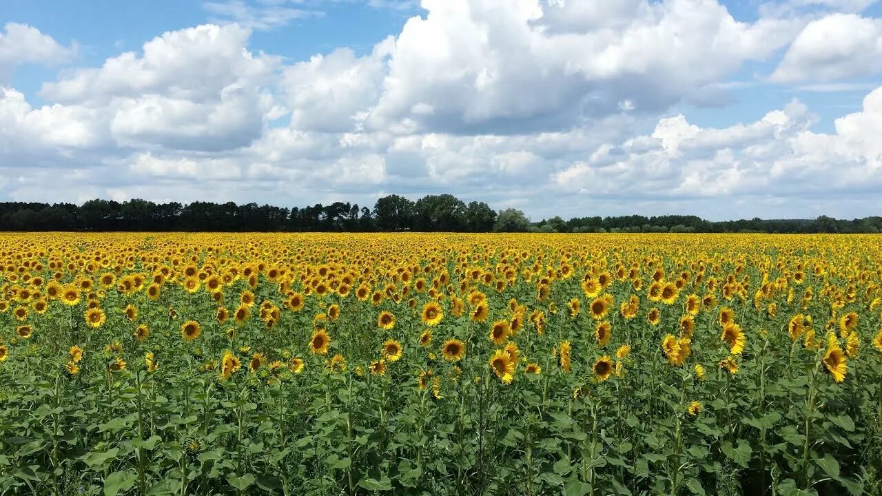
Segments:
[[[852,221],[813,220],[710,222],[695,215],[560,217],[530,222],[520,210],[499,212],[482,201],[465,203],[449,194],[416,201],[389,195],[370,207],[349,202],[311,207],[273,207],[233,202],[154,203],[93,199],[72,203],[0,203],[0,230],[7,231],[444,231],[444,232],[768,232],[878,233],[882,217]]]

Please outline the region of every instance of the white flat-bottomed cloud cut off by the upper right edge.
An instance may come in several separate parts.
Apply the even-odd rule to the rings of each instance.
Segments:
[[[882,19],[833,14],[805,26],[771,79],[831,81],[882,71]]]

